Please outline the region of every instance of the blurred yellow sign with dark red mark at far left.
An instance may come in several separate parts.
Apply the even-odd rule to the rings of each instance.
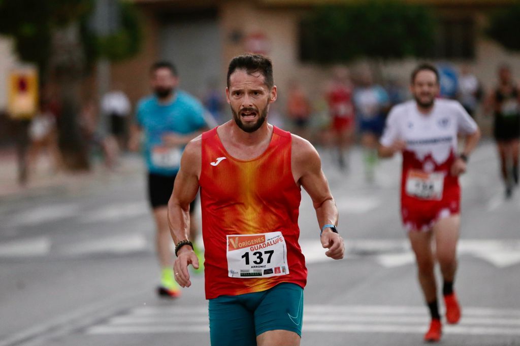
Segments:
[[[9,73],[7,110],[13,119],[30,119],[38,110],[38,72],[34,66]]]

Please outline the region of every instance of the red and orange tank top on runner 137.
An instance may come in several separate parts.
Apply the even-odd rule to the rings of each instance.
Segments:
[[[274,127],[266,151],[247,161],[227,153],[217,128],[204,132],[199,183],[206,299],[264,291],[282,282],[305,286],[307,269],[298,244],[301,189],[292,175],[289,132]],[[238,238],[229,237],[228,244],[228,236],[270,232],[281,232],[284,238],[287,254],[283,256],[287,257],[289,273],[270,277],[230,277],[228,245],[235,246]],[[245,238],[248,237],[240,239]],[[253,253],[253,247],[251,251]]]

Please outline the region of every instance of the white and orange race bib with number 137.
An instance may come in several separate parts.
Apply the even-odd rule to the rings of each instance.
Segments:
[[[227,235],[228,276],[261,278],[289,274],[282,232]]]

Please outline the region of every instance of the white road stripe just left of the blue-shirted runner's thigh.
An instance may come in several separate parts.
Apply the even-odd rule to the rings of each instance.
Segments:
[[[88,212],[80,220],[83,223],[120,221],[149,213],[150,209],[146,203],[119,203]]]

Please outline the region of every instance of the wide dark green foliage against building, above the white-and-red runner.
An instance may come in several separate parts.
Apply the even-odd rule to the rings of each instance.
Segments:
[[[318,7],[302,22],[302,33],[302,58],[309,61],[427,56],[435,42],[435,19],[421,5],[370,0]]]

